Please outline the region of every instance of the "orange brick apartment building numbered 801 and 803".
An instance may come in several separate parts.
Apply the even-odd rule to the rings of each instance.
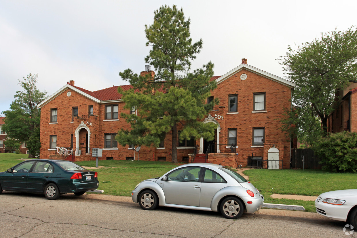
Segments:
[[[153,71],[141,73],[154,75]],[[247,65],[246,59],[212,80],[217,81],[218,87],[207,101],[219,98],[220,103],[203,122],[217,125],[215,139],[178,142],[178,161],[191,162],[194,155],[207,153],[209,162],[231,167],[251,166],[255,160],[270,158],[279,161],[276,168],[289,168],[291,142],[280,129],[280,119],[284,109],[291,108],[295,84]],[[70,81],[41,102],[40,157],[54,158],[63,153],[58,147],[65,147],[73,151],[75,161],[82,161],[92,159],[91,148],[103,148],[100,159],[132,160],[136,156],[140,160],[171,161],[171,133],[159,147],[142,146],[139,153],[114,140],[120,128],[129,128],[120,117],[126,109],[118,87],[127,90],[131,85],[92,92]]]

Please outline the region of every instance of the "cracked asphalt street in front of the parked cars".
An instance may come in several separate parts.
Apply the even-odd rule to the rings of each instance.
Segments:
[[[350,229],[347,236],[345,225],[311,212],[261,209],[231,220],[216,212],[144,211],[126,197],[0,195],[0,237],[357,237]]]

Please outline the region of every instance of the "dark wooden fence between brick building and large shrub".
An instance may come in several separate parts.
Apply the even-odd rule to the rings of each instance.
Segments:
[[[291,167],[304,169],[321,169],[320,159],[314,156],[312,149],[292,149]]]

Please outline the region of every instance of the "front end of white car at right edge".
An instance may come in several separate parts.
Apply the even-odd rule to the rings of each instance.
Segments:
[[[315,200],[315,207],[318,214],[357,228],[357,189],[322,193]]]

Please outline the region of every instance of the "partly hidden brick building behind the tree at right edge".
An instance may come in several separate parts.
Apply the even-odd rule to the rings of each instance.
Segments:
[[[352,89],[351,89],[352,88]],[[327,119],[327,132],[357,132],[357,82],[351,82],[345,90],[339,90],[342,101]]]

